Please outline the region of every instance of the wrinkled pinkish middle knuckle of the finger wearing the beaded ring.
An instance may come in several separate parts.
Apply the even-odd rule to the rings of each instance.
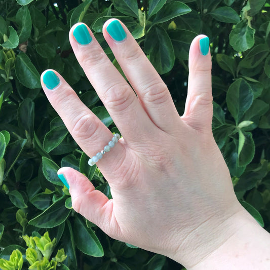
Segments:
[[[71,134],[75,138],[88,139],[96,133],[98,129],[97,121],[90,115],[79,115],[71,127]]]

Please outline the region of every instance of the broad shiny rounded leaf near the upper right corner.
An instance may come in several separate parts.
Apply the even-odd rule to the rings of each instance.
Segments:
[[[244,20],[240,21],[229,34],[229,44],[237,52],[244,52],[253,47],[255,29]]]

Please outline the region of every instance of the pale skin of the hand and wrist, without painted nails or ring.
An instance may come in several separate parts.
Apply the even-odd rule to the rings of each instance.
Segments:
[[[69,40],[123,136],[98,161],[113,199],[86,176],[61,168],[72,207],[110,237],[166,255],[188,270],[269,269],[270,237],[238,202],[226,163],[213,138],[211,55],[195,38],[189,51],[188,95],[180,117],[159,74],[122,24],[127,38],[103,35],[128,81],[93,40]],[[82,150],[93,157],[112,133],[60,79],[42,85],[50,103]],[[136,92],[136,95],[134,91]]]

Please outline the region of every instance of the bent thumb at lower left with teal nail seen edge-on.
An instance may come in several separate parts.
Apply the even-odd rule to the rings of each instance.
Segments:
[[[68,188],[72,208],[99,226],[112,238],[120,238],[120,228],[113,214],[113,200],[109,200],[82,173],[63,167],[57,172],[58,177]]]

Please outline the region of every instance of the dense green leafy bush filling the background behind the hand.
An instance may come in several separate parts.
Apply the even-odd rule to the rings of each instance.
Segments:
[[[210,37],[213,133],[238,199],[269,231],[270,5],[265,2],[0,1],[1,262],[11,263],[14,269],[27,269],[35,263],[42,269],[54,269],[54,262],[57,269],[71,270],[179,268],[164,256],[107,237],[72,210],[68,189],[57,177],[61,166],[72,167],[111,197],[102,174],[96,166],[88,166],[87,156],[40,84],[42,71],[56,69],[102,122],[117,131],[68,41],[70,26],[87,23],[122,72],[101,33],[103,23],[111,17],[127,25],[162,74],[180,114],[187,91],[189,45],[197,34]],[[41,235],[59,250],[57,260],[41,255],[42,247],[37,244]],[[37,242],[31,246],[29,239]]]

